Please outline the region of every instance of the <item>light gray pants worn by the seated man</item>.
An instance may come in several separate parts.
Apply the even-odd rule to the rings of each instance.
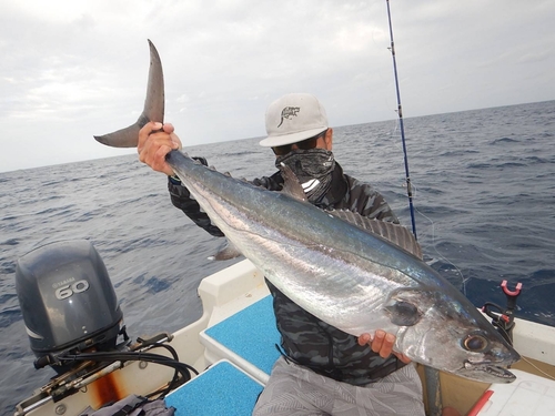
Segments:
[[[380,382],[353,386],[280,357],[253,415],[424,416],[422,384],[414,365]]]

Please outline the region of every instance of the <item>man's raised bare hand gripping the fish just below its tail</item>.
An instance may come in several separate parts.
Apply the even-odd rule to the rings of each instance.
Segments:
[[[181,149],[181,141],[170,123],[162,125],[162,123],[150,122],[139,131],[137,145],[139,160],[153,171],[163,172],[168,176],[173,175],[173,170],[165,162],[165,155],[176,149]]]

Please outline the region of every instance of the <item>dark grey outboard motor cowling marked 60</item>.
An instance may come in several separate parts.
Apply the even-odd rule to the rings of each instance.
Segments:
[[[104,263],[90,242],[52,243],[26,254],[18,261],[16,290],[38,362],[115,347],[123,314]]]

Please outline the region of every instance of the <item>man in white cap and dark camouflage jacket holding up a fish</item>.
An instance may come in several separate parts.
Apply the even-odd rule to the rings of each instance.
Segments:
[[[260,144],[273,150],[278,168],[282,163],[291,168],[309,202],[324,210],[350,210],[398,223],[377,191],[343,173],[332,153],[333,130],[315,97],[282,97],[268,108],[265,123],[268,138]],[[172,203],[196,225],[222,236],[165,163],[165,154],[179,148],[181,142],[170,124],[150,123],[140,132],[139,158],[169,176]],[[278,171],[252,183],[280,191],[283,177]],[[392,354],[393,334],[349,335],[266,283],[274,298],[283,356],[272,369],[254,415],[424,415],[420,378],[414,366],[406,365],[408,358]]]

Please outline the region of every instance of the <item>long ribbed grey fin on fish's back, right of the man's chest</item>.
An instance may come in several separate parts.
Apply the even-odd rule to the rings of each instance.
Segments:
[[[351,211],[330,211],[330,214],[356,225],[398,245],[404,251],[422,260],[422,248],[414,235],[403,225],[380,220],[371,220]]]

